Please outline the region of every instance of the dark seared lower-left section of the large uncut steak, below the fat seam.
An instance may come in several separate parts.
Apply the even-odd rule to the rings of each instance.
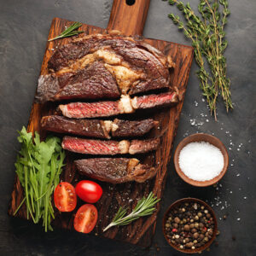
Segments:
[[[102,62],[96,61],[75,74],[64,73],[58,77],[50,73],[40,76],[36,99],[46,102],[73,98],[117,98],[119,95],[113,75]]]

